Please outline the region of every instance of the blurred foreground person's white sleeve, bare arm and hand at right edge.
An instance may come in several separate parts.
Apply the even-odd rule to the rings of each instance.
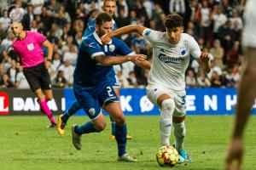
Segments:
[[[225,158],[226,170],[241,170],[243,157],[242,134],[250,116],[256,97],[256,1],[248,0],[244,17],[246,25],[243,30],[244,62],[243,74],[238,86],[236,105],[236,122],[232,133],[230,147]],[[233,162],[236,161],[236,164]]]

